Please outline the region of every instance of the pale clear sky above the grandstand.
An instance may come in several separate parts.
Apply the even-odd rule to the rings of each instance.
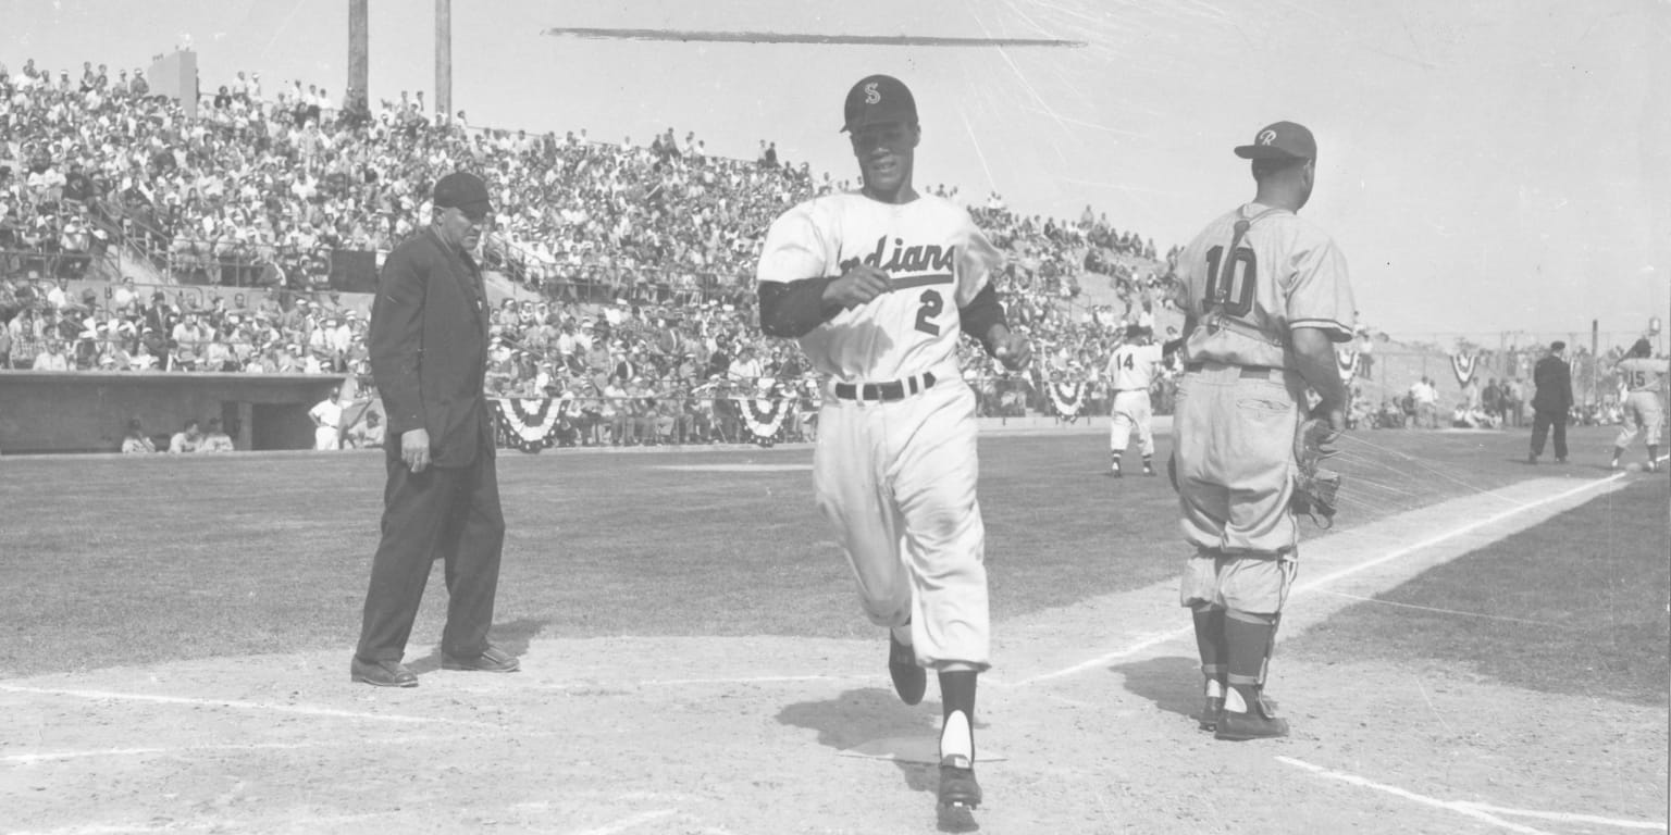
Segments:
[[[140,8],[144,8],[140,12]],[[433,100],[433,5],[371,3],[371,95]],[[237,68],[339,94],[348,0],[0,0],[0,62],[135,67],[190,33],[206,87]],[[1051,37],[1084,48],[886,48],[553,38],[546,27]],[[695,130],[715,154],[851,175],[847,87],[912,87],[917,182],[1183,244],[1252,195],[1230,154],[1312,127],[1305,214],[1395,336],[1634,336],[1671,307],[1671,3],[1664,0],[453,0],[471,122]],[[1449,341],[1447,336],[1440,339]]]

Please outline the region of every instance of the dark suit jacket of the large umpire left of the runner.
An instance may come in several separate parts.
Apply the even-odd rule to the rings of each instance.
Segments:
[[[478,446],[491,454],[488,299],[470,252],[448,249],[434,229],[394,247],[378,279],[368,347],[389,414],[386,446],[398,451],[403,433],[428,429],[434,466],[470,466]]]

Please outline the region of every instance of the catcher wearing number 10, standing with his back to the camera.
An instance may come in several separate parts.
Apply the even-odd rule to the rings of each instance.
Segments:
[[[1252,740],[1288,733],[1263,685],[1298,559],[1295,433],[1307,386],[1320,397],[1312,414],[1345,429],[1333,342],[1352,339],[1355,307],[1345,257],[1295,214],[1317,179],[1312,132],[1277,122],[1235,150],[1253,160],[1253,202],[1178,257],[1188,336],[1173,464],[1195,546],[1180,598],[1201,651],[1200,721]]]

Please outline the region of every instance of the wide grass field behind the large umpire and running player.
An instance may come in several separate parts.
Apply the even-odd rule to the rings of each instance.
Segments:
[[[1534,469],[1521,463],[1519,433],[1359,433],[1337,459],[1340,524],[1532,474],[1594,478],[1584,461],[1604,453],[1586,451],[1608,436],[1574,431],[1579,464]],[[1183,549],[1165,476],[1105,478],[1103,436],[994,436],[981,456],[999,623],[1175,576]],[[535,633],[874,635],[812,508],[810,459],[807,449],[503,454],[496,635],[513,650]],[[717,464],[787,469],[667,469]],[[0,468],[0,676],[336,646],[346,665],[376,546],[379,454]],[[1572,548],[1551,551],[1576,559]],[[443,611],[436,573],[414,641],[439,635]]]

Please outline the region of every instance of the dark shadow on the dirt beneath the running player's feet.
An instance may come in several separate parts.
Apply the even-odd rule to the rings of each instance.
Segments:
[[[807,728],[819,733],[819,745],[846,752],[859,745],[894,738],[922,736],[937,740],[939,736],[939,703],[924,700],[922,705],[906,706],[892,690],[861,688],[822,701],[799,701],[777,713],[777,721],[795,728]],[[983,723],[978,720],[976,728]],[[979,758],[979,753],[976,753]],[[921,792],[934,803],[939,790],[939,768],[934,765],[907,763],[894,760],[906,787]],[[979,767],[976,768],[979,775]],[[981,825],[966,810],[947,810],[936,805],[936,825],[939,832],[979,832]]]

